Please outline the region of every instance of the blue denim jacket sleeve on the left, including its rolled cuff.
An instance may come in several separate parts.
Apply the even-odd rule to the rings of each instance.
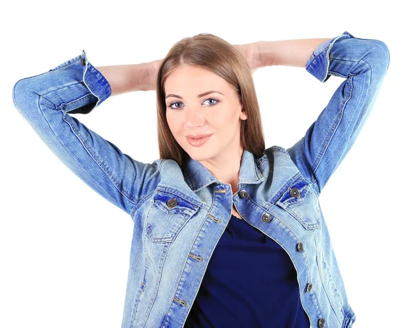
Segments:
[[[155,189],[161,160],[136,161],[69,115],[90,113],[110,95],[111,86],[84,50],[13,87],[14,106],[49,149],[89,187],[133,215],[139,200]]]

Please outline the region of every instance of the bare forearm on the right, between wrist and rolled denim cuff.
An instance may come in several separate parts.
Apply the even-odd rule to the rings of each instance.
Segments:
[[[298,40],[258,41],[260,67],[306,67],[314,49],[331,38],[303,38]]]

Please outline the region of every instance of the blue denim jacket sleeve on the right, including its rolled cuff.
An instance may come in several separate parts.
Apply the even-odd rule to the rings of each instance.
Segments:
[[[306,63],[306,71],[322,83],[330,75],[345,78],[304,137],[287,149],[318,194],[365,125],[388,67],[385,43],[349,32],[319,45]]]

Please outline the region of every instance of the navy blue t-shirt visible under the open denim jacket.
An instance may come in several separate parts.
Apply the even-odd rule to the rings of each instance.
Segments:
[[[231,215],[184,327],[309,328],[288,253]]]

